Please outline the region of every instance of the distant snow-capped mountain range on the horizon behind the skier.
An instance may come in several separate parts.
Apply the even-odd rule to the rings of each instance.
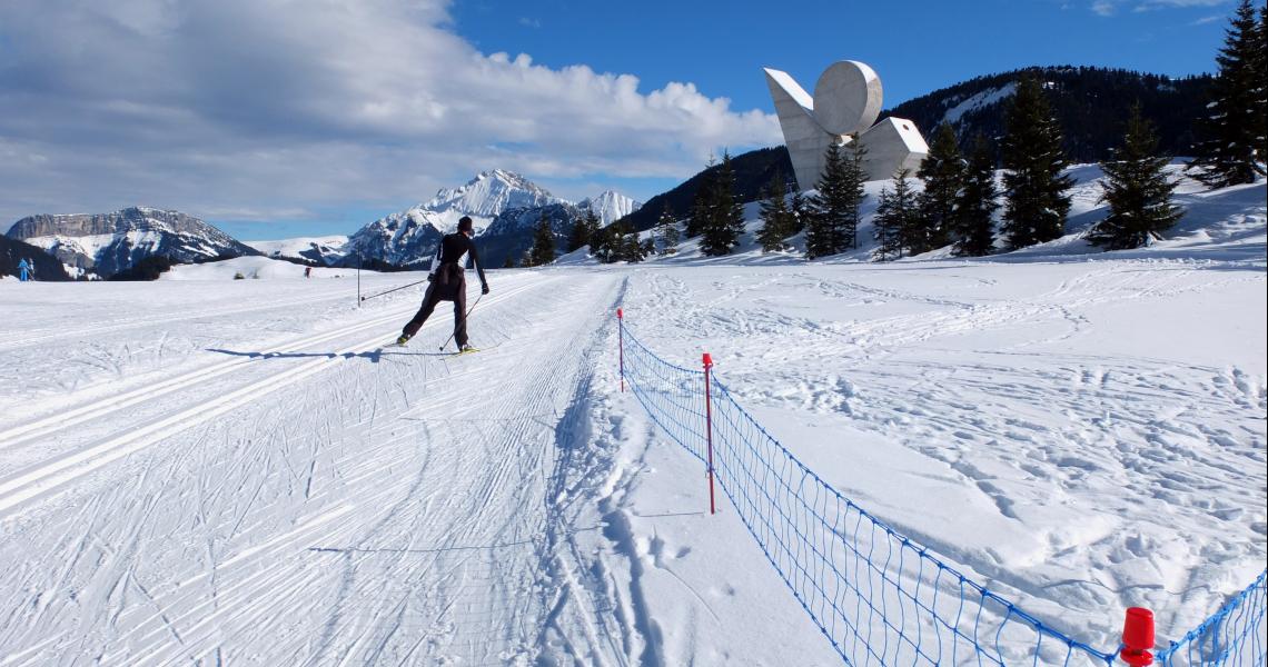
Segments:
[[[526,178],[503,170],[484,171],[459,188],[445,188],[431,200],[361,227],[351,236],[290,238],[243,243],[185,213],[133,207],[104,214],[30,216],[6,238],[29,243],[56,257],[74,276],[112,278],[147,257],[176,264],[242,255],[265,255],[313,265],[411,268],[430,261],[441,236],[470,216],[486,266],[519,260],[545,217],[560,249],[573,221],[593,210],[606,224],[639,203],[611,190],[579,203],[554,197]],[[24,246],[28,247],[28,246]],[[14,250],[22,254],[24,250]],[[42,276],[55,275],[43,270]]]

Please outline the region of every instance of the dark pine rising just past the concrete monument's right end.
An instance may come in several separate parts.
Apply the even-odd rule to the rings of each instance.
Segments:
[[[929,153],[921,162],[915,178],[924,181],[924,191],[918,197],[921,217],[914,238],[909,240],[912,254],[919,255],[947,245],[955,226],[955,204],[964,186],[964,157],[956,142],[955,131],[946,120],[938,126]]]

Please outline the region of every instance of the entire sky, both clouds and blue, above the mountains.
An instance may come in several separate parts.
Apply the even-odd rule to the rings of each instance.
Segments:
[[[1231,0],[5,0],[0,228],[155,205],[350,233],[483,169],[647,199],[780,143],[761,67],[891,107],[1028,65],[1213,70]]]

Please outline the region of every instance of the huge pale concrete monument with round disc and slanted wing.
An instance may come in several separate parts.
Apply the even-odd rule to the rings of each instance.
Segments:
[[[786,72],[770,67],[763,71],[803,190],[814,188],[819,180],[828,145],[844,146],[848,134],[857,133],[858,145],[867,150],[864,157],[867,180],[888,179],[899,167],[914,172],[929,152],[915,123],[902,118],[876,123],[880,77],[862,62],[846,60],[829,65],[814,85],[814,99]]]

